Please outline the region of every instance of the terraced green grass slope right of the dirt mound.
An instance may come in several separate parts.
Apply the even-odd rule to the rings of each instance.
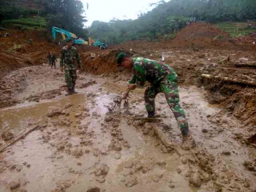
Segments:
[[[255,25],[247,27],[247,23],[245,22],[220,22],[213,25],[229,33],[232,37],[247,36],[250,32],[256,31]]]

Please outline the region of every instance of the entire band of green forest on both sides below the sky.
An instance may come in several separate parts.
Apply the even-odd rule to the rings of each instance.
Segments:
[[[255,0],[164,0],[135,20],[94,21],[88,29],[80,0],[2,0],[1,27],[61,27],[79,37],[101,39],[109,44],[147,38],[174,38],[190,22],[247,21],[256,19]],[[107,11],[107,9],[106,9]],[[102,13],[104,14],[104,13]]]

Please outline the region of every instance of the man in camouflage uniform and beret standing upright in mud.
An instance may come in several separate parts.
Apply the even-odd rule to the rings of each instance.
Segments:
[[[65,71],[65,82],[67,83],[68,93],[66,95],[70,95],[73,93],[77,93],[74,91],[75,82],[77,79],[76,76],[76,61],[78,67],[82,67],[82,63],[80,60],[80,56],[77,53],[77,49],[72,46],[73,40],[70,37],[66,38],[67,45],[61,49],[60,56],[60,68],[61,71]]]

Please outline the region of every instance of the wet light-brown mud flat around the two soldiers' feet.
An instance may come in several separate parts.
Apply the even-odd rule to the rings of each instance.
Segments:
[[[18,104],[0,110],[1,148],[36,129],[0,154],[0,191],[256,191],[255,148],[236,137],[244,125],[221,113],[220,105],[209,104],[209,92],[202,87],[180,86],[197,142],[192,151],[180,148],[174,116],[164,95],[157,96],[161,121],[156,124],[176,146],[168,151],[148,123],[136,120],[146,117],[144,90],[130,94],[130,114],[123,106],[109,112],[126,90],[123,79],[128,75],[113,80],[82,73],[78,94],[71,96],[64,96],[64,74],[47,64],[18,69],[5,78],[14,81],[7,90],[15,89],[11,95]]]

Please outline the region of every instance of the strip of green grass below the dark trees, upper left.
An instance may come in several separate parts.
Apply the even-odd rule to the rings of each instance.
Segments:
[[[23,25],[29,27],[46,27],[46,20],[42,17],[35,18],[19,18],[19,19],[9,19],[2,21],[2,25],[4,26],[12,26],[12,25]]]

